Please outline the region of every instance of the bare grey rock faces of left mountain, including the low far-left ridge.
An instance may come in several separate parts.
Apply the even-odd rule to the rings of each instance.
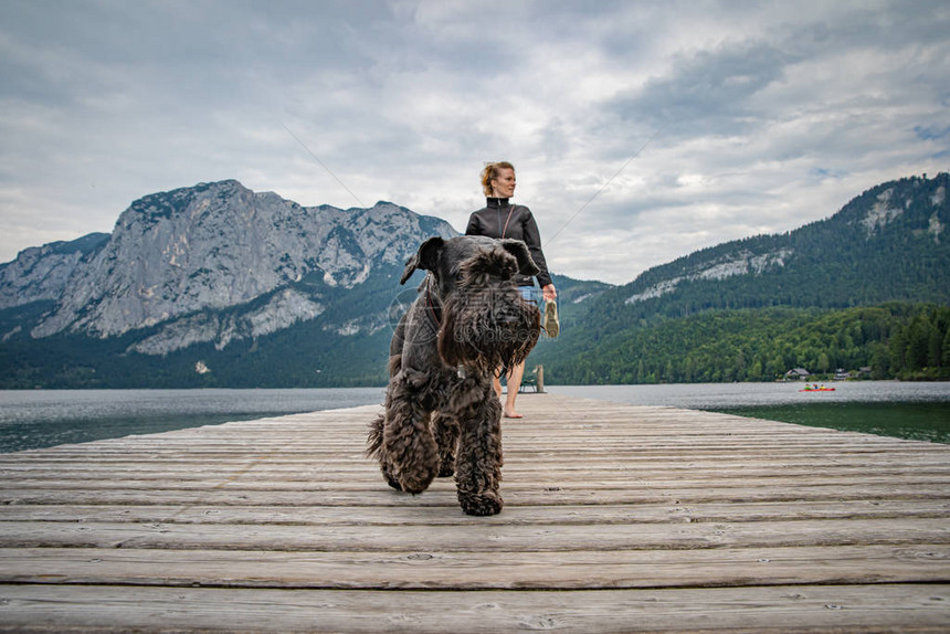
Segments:
[[[30,330],[36,339],[155,327],[129,349],[221,349],[314,319],[328,292],[401,265],[434,234],[455,231],[388,202],[304,208],[234,180],[201,183],[135,201],[110,236],[23,251],[0,267],[0,306],[53,300]],[[351,334],[360,327],[348,326]]]

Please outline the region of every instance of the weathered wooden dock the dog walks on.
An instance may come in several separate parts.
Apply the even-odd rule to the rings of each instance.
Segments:
[[[0,455],[0,631],[950,631],[950,446],[518,403],[489,518],[378,406]]]

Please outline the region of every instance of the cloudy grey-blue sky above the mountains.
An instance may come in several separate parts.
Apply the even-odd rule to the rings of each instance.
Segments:
[[[235,178],[464,231],[509,160],[612,283],[950,170],[950,3],[0,0],[0,262]]]

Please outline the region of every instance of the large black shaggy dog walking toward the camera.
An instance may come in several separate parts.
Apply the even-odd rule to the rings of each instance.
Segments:
[[[390,345],[386,414],[370,424],[367,455],[389,485],[411,494],[455,474],[468,515],[502,510],[502,404],[493,372],[525,360],[540,311],[514,282],[538,267],[520,240],[432,237],[400,284],[428,271]]]

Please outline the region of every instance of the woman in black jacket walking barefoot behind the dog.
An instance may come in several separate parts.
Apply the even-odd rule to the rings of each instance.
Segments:
[[[537,277],[545,299],[553,300],[558,296],[558,293],[551,282],[551,275],[548,273],[545,254],[541,252],[541,235],[538,232],[535,216],[531,215],[531,211],[527,207],[509,202],[511,197],[515,196],[515,167],[508,161],[486,165],[485,169],[482,170],[482,189],[488,199],[487,203],[484,209],[474,212],[468,219],[468,228],[465,230],[465,234],[522,240],[528,245],[528,251],[531,252],[531,258],[535,261],[535,264],[540,268]],[[535,300],[535,281],[531,277],[516,275],[515,282],[520,287],[521,296],[525,299]],[[504,408],[505,416],[508,419],[522,418],[515,410],[515,399],[518,395],[518,389],[521,387],[521,377],[524,373],[524,361],[514,368],[509,368],[508,398]],[[498,399],[500,399],[500,377],[495,377],[495,392],[497,392]]]

